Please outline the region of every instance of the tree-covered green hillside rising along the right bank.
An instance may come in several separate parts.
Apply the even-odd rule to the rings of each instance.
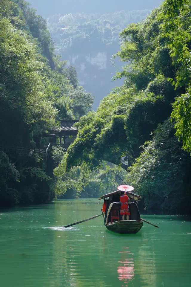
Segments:
[[[81,118],[57,175],[78,165],[95,170],[103,160],[119,164],[126,156],[131,167],[123,180],[147,210],[190,213],[190,6],[166,0],[121,32],[114,57],[124,67],[115,78],[124,85]]]

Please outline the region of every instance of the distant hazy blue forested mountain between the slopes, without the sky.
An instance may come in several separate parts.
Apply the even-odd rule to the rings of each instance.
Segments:
[[[121,11],[112,14],[57,14],[47,19],[56,53],[75,66],[79,84],[95,96],[93,109],[116,83],[112,77],[121,67],[111,58],[119,48],[119,33],[132,22],[145,19],[149,10]],[[122,85],[123,80],[118,81]]]

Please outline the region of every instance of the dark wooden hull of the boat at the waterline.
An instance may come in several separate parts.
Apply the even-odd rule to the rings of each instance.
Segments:
[[[106,227],[110,231],[122,234],[135,234],[143,226],[142,221],[136,220],[120,220],[113,223],[107,223]]]

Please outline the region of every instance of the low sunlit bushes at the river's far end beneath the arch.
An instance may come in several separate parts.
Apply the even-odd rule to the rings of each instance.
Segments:
[[[61,162],[65,152],[61,147],[53,147],[55,166]],[[127,172],[121,167],[102,162],[98,170],[90,170],[87,164],[73,167],[69,172],[63,172],[60,166],[54,170],[57,176],[55,193],[58,198],[92,198],[100,194],[112,192],[122,182]]]

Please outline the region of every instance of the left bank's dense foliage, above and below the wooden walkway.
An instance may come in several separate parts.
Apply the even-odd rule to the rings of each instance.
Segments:
[[[54,54],[46,21],[24,0],[0,2],[0,146],[35,148],[39,133],[91,109],[74,67]],[[40,203],[55,196],[53,161],[1,152],[1,205]],[[13,161],[13,162],[12,162]]]

